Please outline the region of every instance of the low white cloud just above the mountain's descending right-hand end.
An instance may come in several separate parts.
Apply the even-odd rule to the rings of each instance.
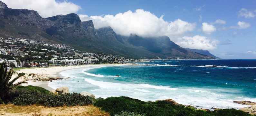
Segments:
[[[196,35],[194,37],[182,37],[180,42],[176,42],[181,47],[191,48],[191,49],[202,49],[202,50],[212,50],[217,47],[219,43],[218,40],[211,40],[204,36]]]

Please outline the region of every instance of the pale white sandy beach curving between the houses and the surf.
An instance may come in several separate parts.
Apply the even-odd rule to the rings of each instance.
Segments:
[[[28,69],[22,69],[17,70],[17,73],[25,73],[25,74],[42,74],[42,75],[48,75],[50,77],[57,77],[60,72],[64,70],[71,70],[71,69],[77,69],[77,68],[89,68],[89,67],[95,67],[95,66],[124,66],[129,64],[89,64],[89,65],[78,65],[78,66],[58,66],[58,67],[45,67],[45,68],[28,68]],[[15,82],[22,81],[24,79],[20,78],[17,79]],[[29,80],[27,83],[22,84],[22,86],[38,86],[43,87],[47,90],[53,90],[53,88],[48,86],[48,81],[35,81],[35,80]]]

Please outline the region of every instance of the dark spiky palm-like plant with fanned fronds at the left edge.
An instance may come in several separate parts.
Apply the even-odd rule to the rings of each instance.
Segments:
[[[28,81],[28,80],[24,80],[14,84],[14,82],[23,75],[19,74],[18,77],[15,77],[13,80],[10,80],[12,78],[12,75],[13,75],[13,69],[10,69],[8,71],[5,62],[1,63],[0,64],[0,98],[2,100],[5,100],[8,98],[8,95],[10,95],[11,90],[14,87],[22,83],[27,83],[26,81]]]

